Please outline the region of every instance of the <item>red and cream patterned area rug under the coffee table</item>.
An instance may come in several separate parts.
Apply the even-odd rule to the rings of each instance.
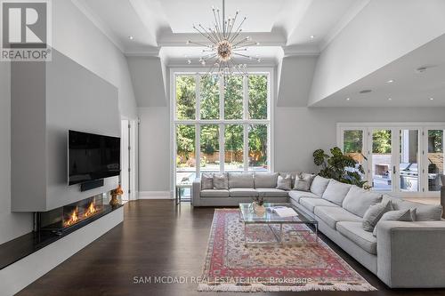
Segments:
[[[277,226],[277,229],[278,226]],[[289,230],[309,230],[286,225]],[[376,291],[372,285],[309,232],[290,232],[295,244],[249,244],[244,241],[239,210],[217,209],[198,291]],[[250,225],[248,241],[274,242],[267,225]]]

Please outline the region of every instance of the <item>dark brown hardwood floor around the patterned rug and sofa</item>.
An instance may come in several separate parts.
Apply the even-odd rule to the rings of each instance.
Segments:
[[[20,296],[240,295],[197,292],[197,284],[134,284],[134,276],[200,276],[213,208],[173,201],[125,204],[125,221],[18,293]],[[445,295],[445,290],[391,290],[320,236],[377,292],[270,292],[261,295]],[[416,268],[416,267],[413,267]],[[419,270],[419,272],[421,272]],[[445,278],[445,277],[444,277]],[[1,294],[1,292],[0,292]]]

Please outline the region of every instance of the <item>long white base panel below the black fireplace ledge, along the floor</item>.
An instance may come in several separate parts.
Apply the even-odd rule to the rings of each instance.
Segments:
[[[0,293],[4,296],[20,292],[64,260],[82,250],[88,244],[114,228],[124,220],[124,207],[109,212],[83,228],[63,236],[12,265],[0,270]]]

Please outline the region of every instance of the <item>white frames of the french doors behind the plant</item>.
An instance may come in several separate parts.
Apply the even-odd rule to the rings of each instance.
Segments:
[[[436,123],[338,123],[336,126],[336,141],[337,146],[344,150],[344,131],[363,131],[363,148],[364,156],[368,157],[365,161],[364,167],[366,172],[366,180],[372,184],[372,131],[376,129],[385,129],[392,131],[392,165],[397,169],[397,173],[392,172],[392,190],[384,191],[384,193],[392,194],[393,196],[401,197],[439,197],[440,191],[429,191],[428,188],[428,170],[425,164],[428,164],[428,131],[429,130],[443,130],[445,131],[445,122]],[[417,130],[419,134],[418,139],[418,188],[417,192],[401,191],[400,184],[400,131],[401,130]],[[445,132],[444,132],[445,133]],[[445,140],[444,140],[445,142]],[[380,191],[378,191],[380,192]]]

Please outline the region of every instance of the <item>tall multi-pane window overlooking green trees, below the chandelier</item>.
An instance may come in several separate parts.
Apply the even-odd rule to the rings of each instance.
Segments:
[[[270,73],[174,74],[176,183],[202,172],[269,172]]]

